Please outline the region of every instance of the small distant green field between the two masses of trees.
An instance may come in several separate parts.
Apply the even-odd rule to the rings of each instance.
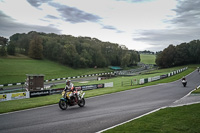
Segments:
[[[156,55],[140,54],[140,59],[141,59],[140,62],[144,64],[156,64],[155,63]]]

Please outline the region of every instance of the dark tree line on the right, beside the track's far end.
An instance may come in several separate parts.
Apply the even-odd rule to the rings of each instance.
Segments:
[[[157,53],[156,64],[161,68],[200,63],[200,41],[193,40],[177,46],[169,45]]]

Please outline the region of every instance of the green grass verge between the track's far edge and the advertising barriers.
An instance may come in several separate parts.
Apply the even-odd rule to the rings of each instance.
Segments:
[[[175,68],[170,68],[170,69],[162,69],[162,70],[155,70],[154,74],[147,74],[147,75],[140,75],[138,78],[143,78],[143,77],[152,77],[157,75],[160,75],[162,73],[170,72],[172,70],[177,70],[178,68],[183,68],[182,67],[175,67]],[[156,85],[159,83],[167,83],[171,82],[174,80],[178,80],[182,78],[182,76],[187,75],[191,73],[195,69],[195,65],[190,65],[189,69],[174,75],[172,77],[158,80],[155,82],[150,82],[146,83],[143,85],[134,85],[134,86],[121,86],[121,81],[130,81],[131,79],[135,79],[137,76],[133,77],[118,77],[118,78],[113,78],[113,79],[108,79],[108,80],[102,80],[102,81],[91,81],[87,84],[96,84],[96,83],[108,83],[108,82],[113,82],[114,87],[112,88],[102,88],[102,89],[96,89],[96,90],[89,90],[86,91],[85,97],[94,97],[98,95],[104,95],[104,94],[110,94],[110,93],[115,93],[119,91],[125,91],[125,90],[130,90],[130,89],[135,89],[135,88],[140,88],[144,86],[150,86],[150,85]],[[75,85],[83,85],[81,83],[75,83]],[[64,88],[64,84],[57,86],[58,88]],[[13,101],[5,101],[5,102],[0,102],[0,113],[5,113],[5,112],[11,112],[11,111],[17,111],[17,110],[23,110],[23,109],[28,109],[28,108],[34,108],[34,107],[40,107],[40,106],[45,106],[45,105],[51,105],[58,103],[59,99],[61,98],[61,95],[49,95],[49,96],[43,96],[43,97],[36,97],[36,98],[30,98],[30,99],[20,99],[20,100],[13,100]]]

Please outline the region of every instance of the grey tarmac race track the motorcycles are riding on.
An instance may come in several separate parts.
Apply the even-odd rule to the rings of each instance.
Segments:
[[[193,72],[181,81],[143,87],[86,99],[86,106],[60,110],[58,105],[0,115],[1,133],[93,133],[160,107],[168,106],[200,84]]]

